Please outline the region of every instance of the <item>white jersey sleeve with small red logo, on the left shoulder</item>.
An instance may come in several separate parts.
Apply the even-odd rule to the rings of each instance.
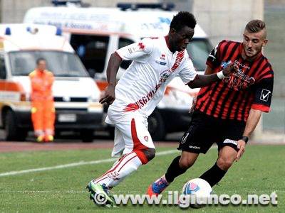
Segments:
[[[116,51],[123,60],[139,60],[145,55],[150,55],[153,50],[153,41],[151,38],[144,38],[137,43],[120,48]]]

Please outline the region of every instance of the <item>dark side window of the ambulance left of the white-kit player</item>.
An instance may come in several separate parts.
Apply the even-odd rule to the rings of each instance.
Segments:
[[[71,35],[71,45],[88,72],[103,72],[109,37],[103,35]]]

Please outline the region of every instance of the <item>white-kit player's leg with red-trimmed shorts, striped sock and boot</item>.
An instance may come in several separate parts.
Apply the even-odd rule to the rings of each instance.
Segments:
[[[135,170],[138,170],[140,165],[146,164],[155,157],[155,146],[147,130],[145,119],[136,116],[120,121],[115,126],[119,131],[117,136],[121,136],[125,144],[123,156],[114,163],[110,170],[89,182],[88,189],[91,191],[90,198],[92,199],[96,193],[100,192],[105,193],[104,195],[111,200],[109,190],[112,187],[118,185]],[[118,153],[119,150],[120,147],[117,150],[113,149],[113,154]]]

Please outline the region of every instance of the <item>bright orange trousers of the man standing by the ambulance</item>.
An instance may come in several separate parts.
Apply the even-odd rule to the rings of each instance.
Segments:
[[[54,135],[56,111],[52,101],[32,101],[31,121],[36,136]]]

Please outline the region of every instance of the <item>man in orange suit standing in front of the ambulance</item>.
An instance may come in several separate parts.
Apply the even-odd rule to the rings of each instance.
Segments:
[[[53,103],[53,73],[46,70],[46,60],[36,60],[31,80],[31,120],[38,142],[51,142],[54,135],[55,108]]]

